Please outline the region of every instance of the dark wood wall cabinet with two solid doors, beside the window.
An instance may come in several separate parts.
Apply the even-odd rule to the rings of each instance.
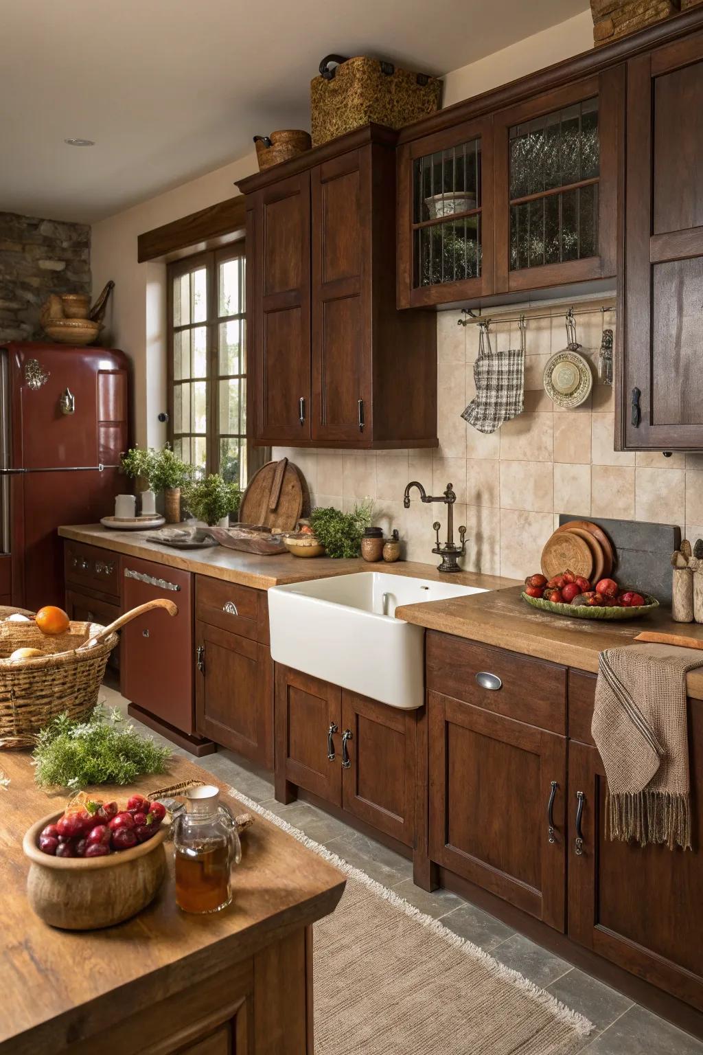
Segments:
[[[257,443],[436,446],[435,321],[395,309],[395,140],[369,124],[238,184]]]

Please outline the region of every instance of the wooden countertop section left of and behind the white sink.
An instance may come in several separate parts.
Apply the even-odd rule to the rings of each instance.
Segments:
[[[460,582],[462,586],[480,587],[484,590],[500,590],[512,586],[514,579],[503,579],[495,575],[479,575],[461,572],[458,575],[441,575],[434,564],[398,560],[387,564],[385,561],[370,564],[362,558],[355,560],[333,560],[331,557],[294,557],[290,553],[262,557],[255,553],[242,553],[223,545],[206,550],[174,550],[173,546],[149,542],[143,532],[110,531],[101,524],[72,524],[59,528],[59,535],[98,545],[113,553],[124,553],[142,560],[155,560],[170,568],[180,568],[184,572],[209,575],[211,578],[237,582],[239,586],[268,590],[269,587],[287,582],[306,582],[324,579],[331,575],[349,575],[352,572],[385,572],[389,575],[412,575],[421,579],[437,582]],[[429,546],[428,546],[429,553]]]

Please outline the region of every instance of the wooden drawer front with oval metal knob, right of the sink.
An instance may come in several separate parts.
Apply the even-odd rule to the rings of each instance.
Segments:
[[[477,675],[492,675],[495,688]],[[430,631],[427,688],[474,707],[566,734],[566,667]]]

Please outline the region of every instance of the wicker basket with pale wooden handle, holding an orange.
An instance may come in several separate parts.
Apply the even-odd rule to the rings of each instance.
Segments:
[[[34,620],[0,622],[0,749],[34,747],[37,733],[52,718],[67,713],[87,717],[98,702],[117,630],[154,608],[176,615],[172,600],[157,598],[125,612],[109,627],[72,621],[64,634],[43,634]],[[42,655],[11,661],[16,649],[40,649]]]

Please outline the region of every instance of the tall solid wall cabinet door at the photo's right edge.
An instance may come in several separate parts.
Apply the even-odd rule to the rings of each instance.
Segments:
[[[625,449],[703,447],[703,33],[627,72]]]

